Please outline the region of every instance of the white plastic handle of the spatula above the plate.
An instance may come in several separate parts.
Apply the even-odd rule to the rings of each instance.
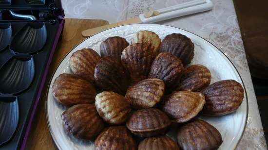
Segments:
[[[198,4],[198,3],[201,3],[201,4]],[[205,3],[204,3],[204,0],[194,0],[194,1],[187,2],[187,3],[156,10],[160,13],[160,15],[157,15],[157,16],[144,17],[144,14],[140,14],[139,18],[141,19],[142,23],[153,23],[153,22],[171,19],[174,17],[181,17],[181,16],[208,11],[208,10],[211,10],[212,7],[213,7],[213,4],[211,0],[206,0]]]

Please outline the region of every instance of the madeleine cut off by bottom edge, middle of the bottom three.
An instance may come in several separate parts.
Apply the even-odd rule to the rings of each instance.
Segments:
[[[147,137],[139,143],[138,150],[180,150],[177,143],[170,137]]]

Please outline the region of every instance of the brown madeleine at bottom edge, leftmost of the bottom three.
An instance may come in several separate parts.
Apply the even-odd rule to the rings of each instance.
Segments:
[[[125,126],[106,128],[95,140],[96,150],[136,150],[136,142]]]

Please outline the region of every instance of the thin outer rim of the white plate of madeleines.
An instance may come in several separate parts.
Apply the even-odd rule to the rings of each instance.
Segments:
[[[102,32],[104,32],[104,31],[107,31],[107,30],[110,30],[110,29],[114,29],[114,28],[117,28],[117,27],[122,27],[122,26],[131,26],[131,25],[137,25],[137,24],[140,24],[140,23],[133,23],[133,24],[127,24],[127,25],[120,25],[120,26],[116,26],[116,27],[113,27],[113,28],[109,28],[109,29],[106,29],[106,30],[103,30],[103,31],[101,31],[101,32],[98,32],[98,33],[102,33]],[[244,126],[244,128],[243,128],[243,131],[242,131],[242,134],[241,134],[241,136],[239,137],[239,139],[238,139],[238,142],[236,143],[236,146],[234,147],[234,149],[233,150],[235,150],[237,147],[238,147],[238,145],[239,145],[239,143],[240,143],[240,141],[241,141],[241,139],[242,139],[242,137],[243,137],[243,135],[244,135],[244,133],[245,133],[245,130],[246,130],[246,127],[247,127],[247,123],[248,123],[248,117],[249,117],[249,100],[248,100],[248,93],[247,93],[247,89],[246,89],[246,87],[245,87],[245,83],[244,83],[244,81],[243,81],[243,79],[242,79],[242,77],[241,77],[241,75],[240,75],[240,73],[239,73],[239,71],[238,71],[238,69],[235,67],[235,65],[233,64],[233,62],[230,60],[230,58],[228,57],[228,56],[226,56],[225,54],[224,54],[224,52],[223,51],[221,51],[218,47],[216,47],[214,44],[212,44],[210,41],[208,41],[208,40],[206,40],[205,38],[203,38],[203,37],[201,37],[201,36],[199,36],[199,35],[197,35],[197,34],[195,34],[195,33],[192,33],[192,32],[190,32],[190,31],[187,31],[187,30],[184,30],[184,29],[181,29],[181,28],[178,28],[178,27],[174,27],[174,26],[171,26],[171,25],[162,25],[162,24],[155,24],[155,23],[143,23],[142,25],[156,25],[156,26],[162,26],[162,27],[172,27],[172,28],[176,28],[176,29],[179,29],[179,30],[183,30],[183,31],[185,31],[185,32],[188,32],[188,33],[191,33],[191,34],[194,34],[195,36],[198,36],[198,37],[200,37],[200,38],[202,38],[203,40],[205,40],[205,41],[207,41],[208,43],[210,43],[213,47],[215,47],[217,50],[219,50],[228,60],[229,60],[229,62],[231,63],[231,65],[235,68],[235,70],[236,70],[236,72],[237,72],[237,74],[238,74],[238,76],[239,76],[239,78],[241,79],[241,82],[242,82],[242,84],[243,84],[243,87],[244,87],[244,91],[245,91],[245,96],[246,96],[246,104],[247,104],[247,114],[246,114],[246,120],[245,120],[245,126]],[[49,87],[51,86],[51,83],[52,83],[52,79],[53,79],[53,77],[54,77],[54,75],[55,75],[55,73],[56,73],[56,71],[57,71],[57,69],[58,69],[58,67],[60,66],[60,64],[63,62],[63,60],[67,57],[67,55],[69,55],[70,54],[70,52],[72,52],[74,49],[76,49],[77,48],[77,46],[79,46],[81,43],[83,43],[84,41],[86,41],[87,39],[89,39],[89,38],[92,38],[94,35],[96,35],[96,34],[98,34],[98,33],[95,33],[95,34],[93,34],[92,36],[89,36],[89,37],[87,37],[87,38],[85,38],[84,40],[82,40],[81,42],[79,42],[77,45],[75,45],[68,53],[66,53],[65,55],[64,55],[64,57],[60,60],[60,62],[58,63],[58,65],[57,65],[57,67],[56,67],[56,69],[53,71],[53,74],[52,74],[52,76],[50,77],[50,79],[49,79],[49,84],[48,84],[48,88],[47,88],[47,91],[46,91],[46,95],[45,95],[45,113],[46,113],[46,121],[47,121],[47,125],[48,125],[48,129],[49,129],[49,132],[50,132],[50,134],[51,134],[51,136],[52,136],[52,139],[53,139],[53,143],[57,146],[57,149],[59,149],[59,150],[63,150],[61,147],[60,147],[60,145],[56,142],[56,137],[55,137],[55,135],[54,135],[54,133],[52,133],[51,132],[51,127],[50,127],[50,123],[49,123],[49,118],[48,118],[48,109],[47,109],[47,107],[48,107],[48,93],[49,93]]]

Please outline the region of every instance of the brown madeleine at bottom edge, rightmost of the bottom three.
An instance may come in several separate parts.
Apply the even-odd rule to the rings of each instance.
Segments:
[[[177,140],[182,150],[217,150],[222,144],[219,131],[201,119],[182,125],[178,130]]]

